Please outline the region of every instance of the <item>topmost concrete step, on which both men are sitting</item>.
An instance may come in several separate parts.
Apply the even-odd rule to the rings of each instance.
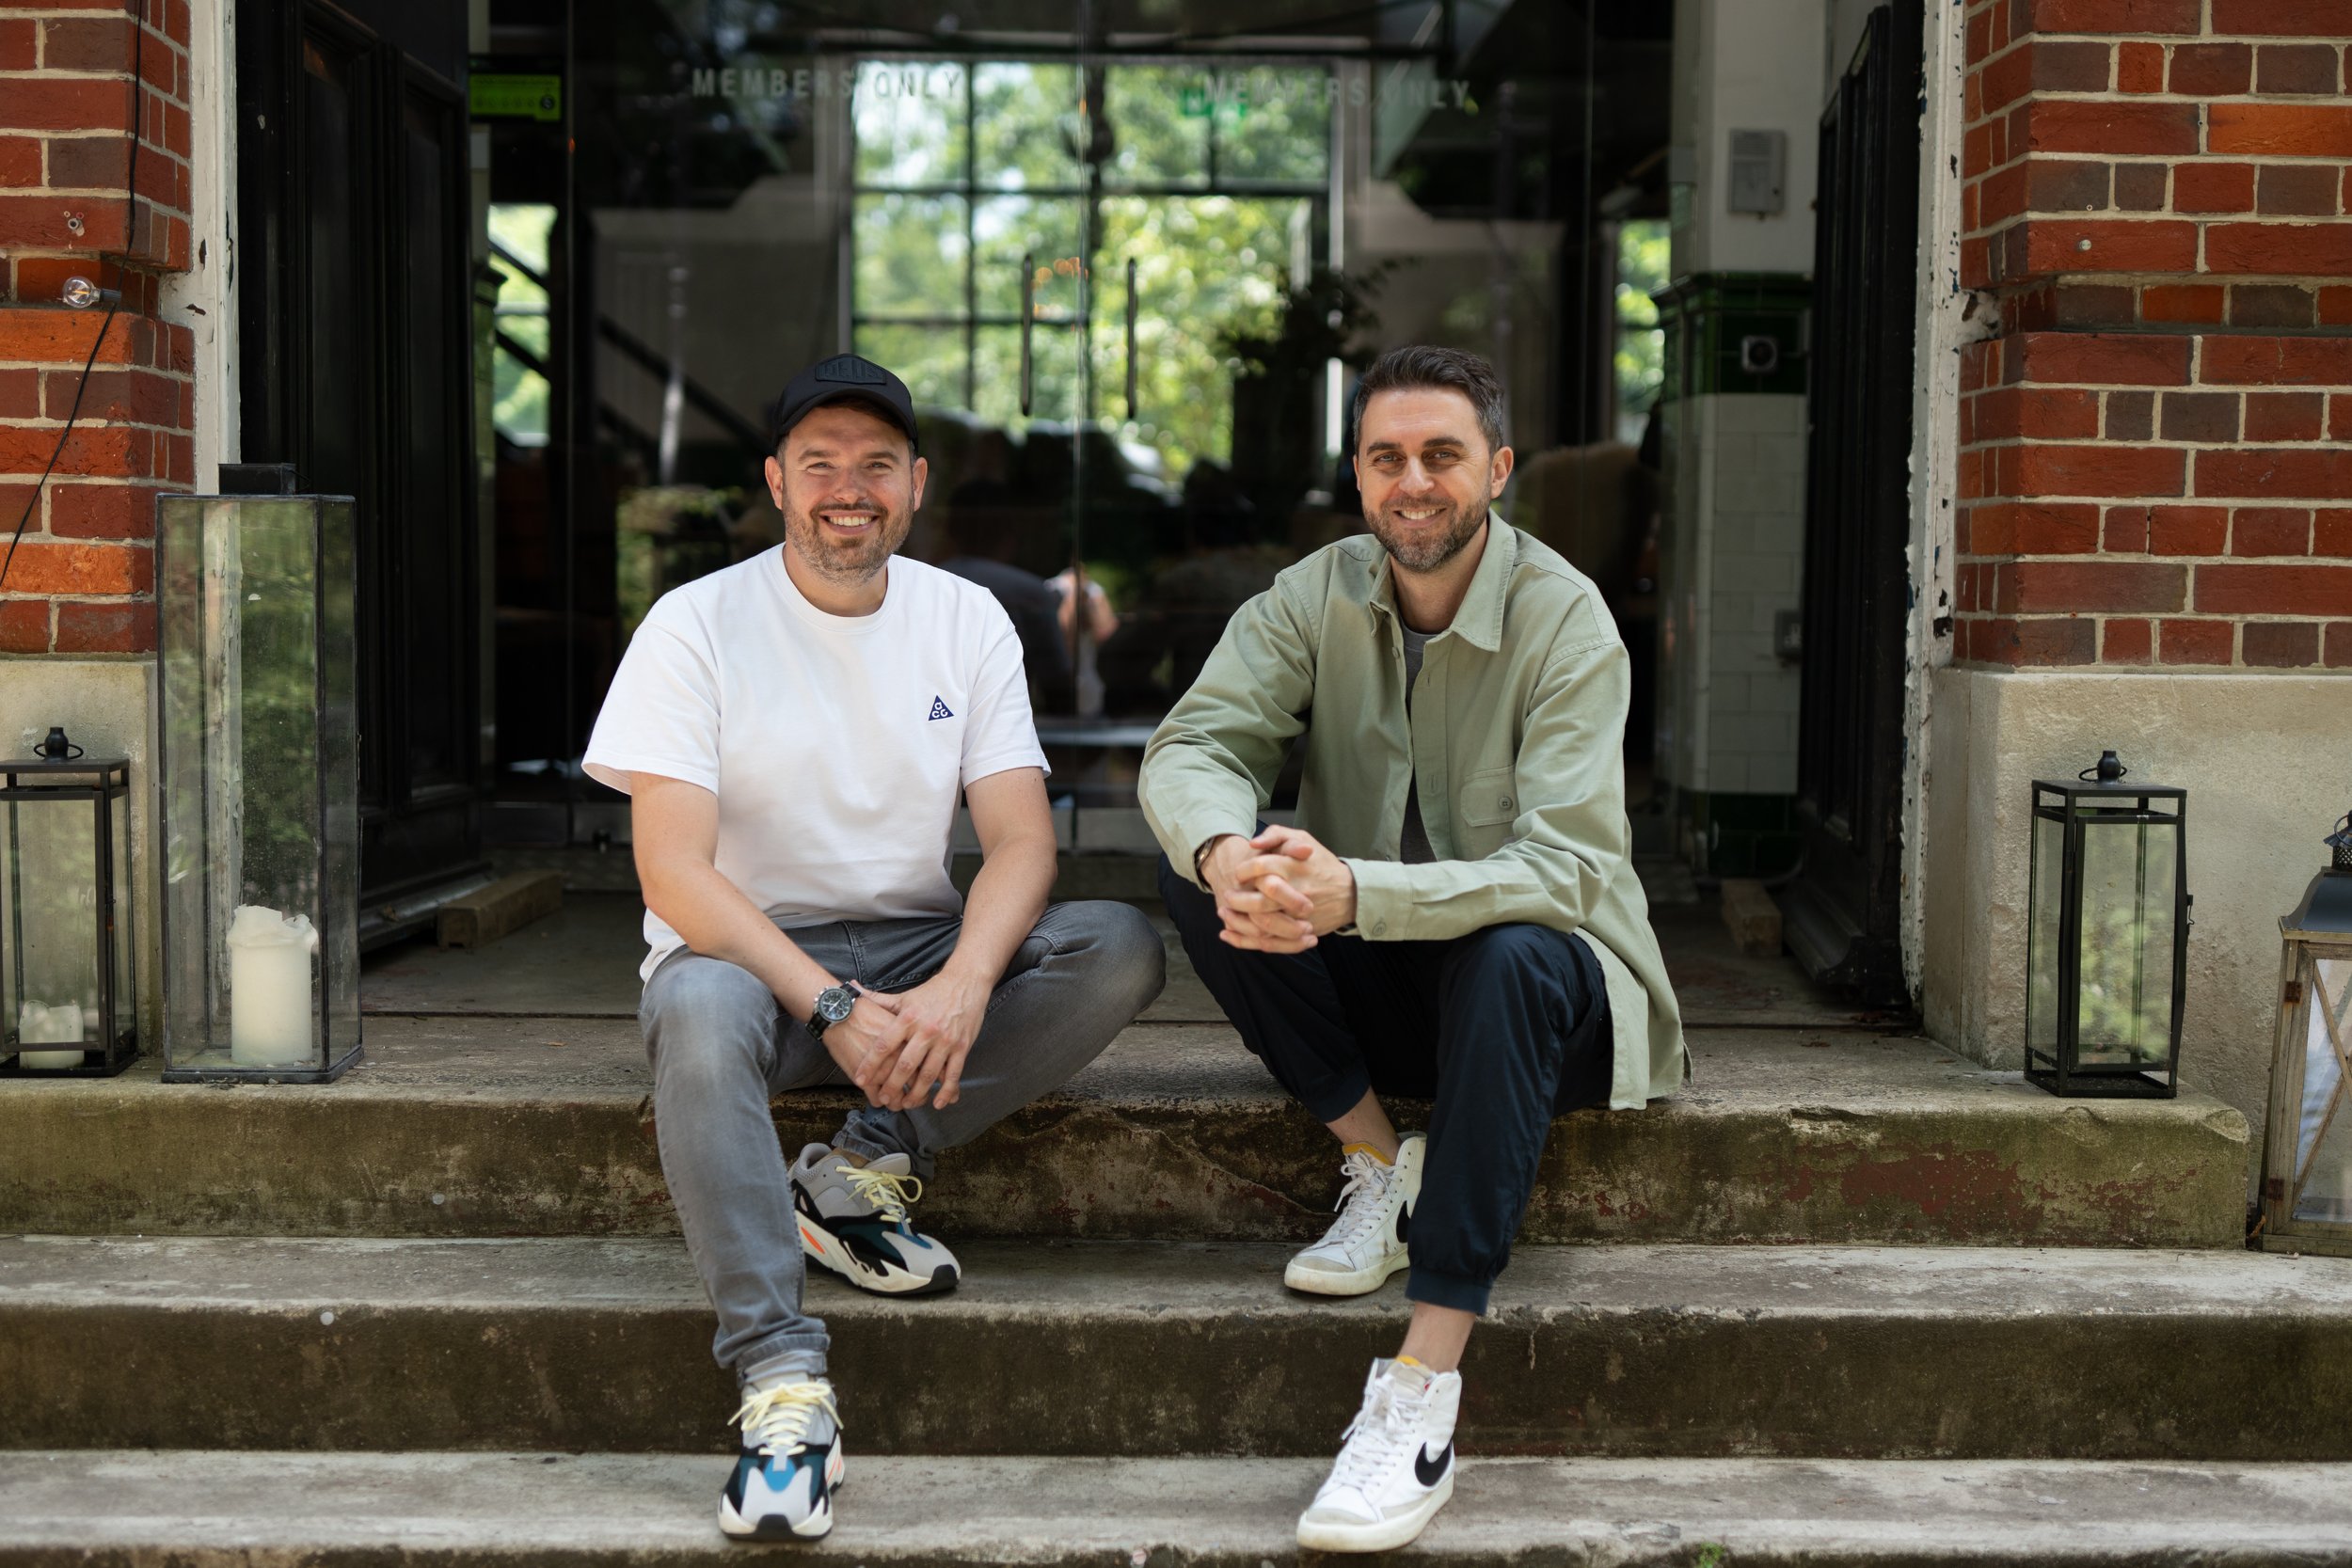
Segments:
[[[517,936],[513,940],[527,940]],[[2204,1095],[2056,1100],[1907,1037],[1705,1030],[1696,1081],[1552,1131],[1526,1241],[2237,1246],[2246,1119]],[[329,1086],[0,1084],[0,1232],[675,1234],[635,1023],[369,1018]],[[847,1091],[776,1100],[786,1147]],[[1399,1103],[1402,1126],[1425,1107]],[[941,1161],[957,1237],[1305,1239],[1329,1135],[1228,1025],[1127,1030],[1065,1093]]]

